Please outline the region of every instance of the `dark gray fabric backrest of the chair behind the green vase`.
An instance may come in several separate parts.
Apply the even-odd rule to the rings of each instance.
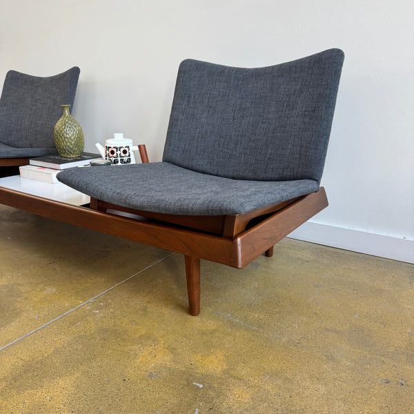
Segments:
[[[17,148],[54,148],[53,129],[73,106],[79,68],[35,77],[10,70],[0,98],[0,142]]]

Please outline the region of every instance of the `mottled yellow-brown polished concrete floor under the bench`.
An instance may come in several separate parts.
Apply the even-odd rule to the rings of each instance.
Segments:
[[[0,206],[0,413],[414,413],[414,266],[284,239],[243,270]]]

